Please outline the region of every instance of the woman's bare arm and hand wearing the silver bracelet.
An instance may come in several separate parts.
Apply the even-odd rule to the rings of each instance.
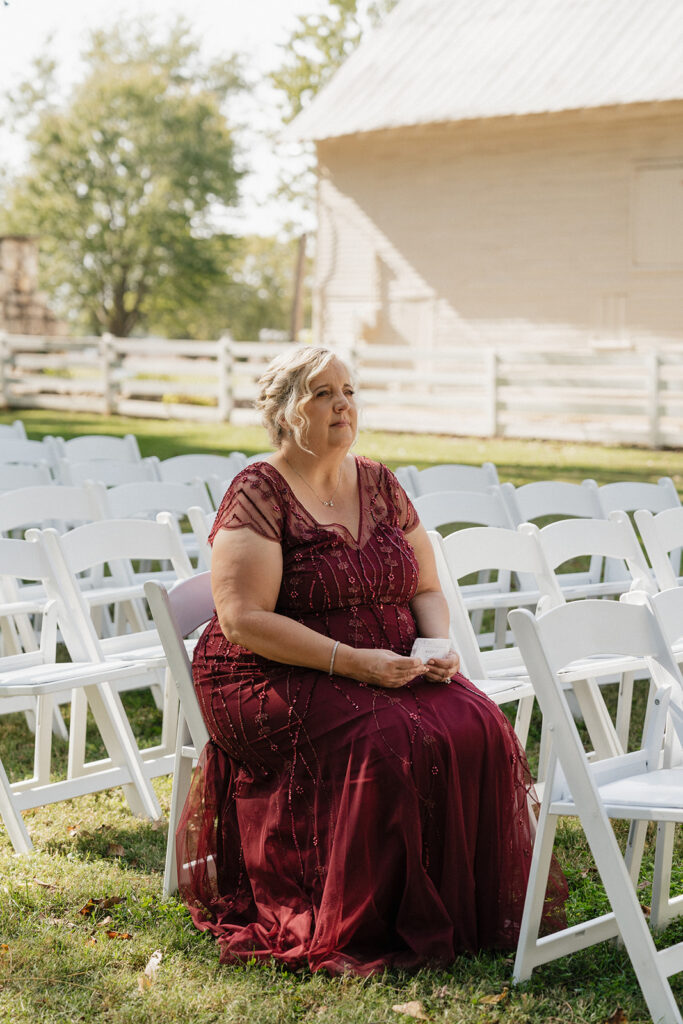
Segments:
[[[329,672],[334,641],[274,611],[283,578],[280,544],[252,529],[221,529],[211,557],[218,622],[228,640],[272,662]],[[403,686],[423,669],[415,657],[340,643],[335,675],[376,686]]]

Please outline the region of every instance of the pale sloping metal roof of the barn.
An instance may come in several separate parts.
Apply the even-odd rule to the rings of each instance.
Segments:
[[[400,0],[288,135],[681,98],[683,0]]]

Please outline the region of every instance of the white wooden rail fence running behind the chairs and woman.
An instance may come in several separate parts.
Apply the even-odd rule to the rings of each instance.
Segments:
[[[0,334],[0,406],[254,423],[256,380],[285,342]],[[413,351],[358,343],[369,429],[680,446],[683,345]]]

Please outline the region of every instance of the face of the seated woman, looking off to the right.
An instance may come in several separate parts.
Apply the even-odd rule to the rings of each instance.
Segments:
[[[344,364],[331,359],[310,381],[310,397],[301,411],[308,419],[303,442],[316,455],[331,449],[349,449],[355,440],[358,413],[350,374]]]

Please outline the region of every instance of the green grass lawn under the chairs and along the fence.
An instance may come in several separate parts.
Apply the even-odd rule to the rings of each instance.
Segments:
[[[13,418],[3,414],[0,422]],[[45,412],[23,419],[33,437],[130,431],[144,455],[161,458],[267,447],[257,428],[84,415],[67,420]],[[361,434],[356,451],[392,466],[490,460],[503,480],[515,483],[551,476],[606,482],[671,475],[681,487],[683,480],[679,451],[377,433]],[[140,738],[152,742],[160,725],[152,700],[144,693],[125,700]],[[31,769],[31,735],[23,716],[2,722],[0,757],[17,778]],[[531,756],[538,734],[537,722]],[[89,746],[96,754],[96,735]],[[67,752],[59,741],[55,750],[60,770]],[[158,779],[156,788],[168,809],[170,779]],[[25,820],[36,845],[30,857],[15,856],[0,829],[0,1024],[410,1024],[415,1018],[394,1008],[412,1001],[420,1004],[423,1019],[452,1024],[649,1020],[628,957],[607,943],[539,969],[529,984],[514,990],[510,953],[462,956],[447,971],[372,979],[293,974],[256,963],[220,967],[212,940],[194,929],[179,901],[161,898],[165,828],[134,818],[120,790],[27,812]],[[568,820],[557,854],[569,880],[570,920],[602,912],[604,894],[583,834]],[[651,858],[650,843],[645,880],[651,878]],[[683,865],[680,856],[675,876],[681,891],[683,869],[677,864]],[[90,912],[81,912],[89,900]],[[641,900],[646,907],[646,881]],[[666,938],[683,940],[683,923],[674,924]],[[150,980],[143,972],[157,950],[161,964]],[[674,986],[683,999],[683,978],[674,979]]]

